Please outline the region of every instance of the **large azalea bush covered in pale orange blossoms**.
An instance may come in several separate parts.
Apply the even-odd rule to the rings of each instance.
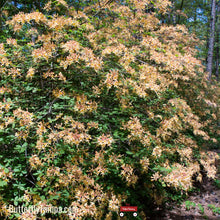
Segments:
[[[0,211],[17,219],[116,219],[215,178],[219,85],[169,1],[48,1],[7,21],[0,44]],[[146,8],[153,5],[154,12]],[[72,207],[10,213],[9,205]]]

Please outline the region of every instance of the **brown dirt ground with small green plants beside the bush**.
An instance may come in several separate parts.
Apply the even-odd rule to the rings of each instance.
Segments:
[[[208,179],[204,180],[200,192],[191,194],[181,205],[172,206],[172,210],[161,211],[158,216],[155,216],[155,220],[220,220],[219,165],[217,180],[219,184]]]

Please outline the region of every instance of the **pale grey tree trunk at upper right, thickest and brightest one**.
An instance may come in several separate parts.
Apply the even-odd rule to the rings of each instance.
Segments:
[[[215,10],[216,10],[216,1],[212,0],[211,6],[211,19],[210,19],[210,35],[209,35],[209,48],[208,48],[208,59],[207,59],[207,72],[208,80],[211,80],[212,77],[212,62],[213,62],[213,50],[214,50],[214,41],[215,41]]]

